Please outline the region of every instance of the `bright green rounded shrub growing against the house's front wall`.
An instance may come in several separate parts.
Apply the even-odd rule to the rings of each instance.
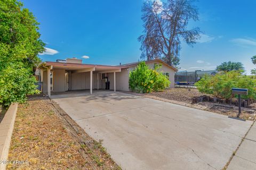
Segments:
[[[139,93],[159,91],[169,87],[171,82],[159,71],[161,67],[155,65],[155,69],[152,70],[145,62],[139,63],[136,69],[130,72],[129,87]]]

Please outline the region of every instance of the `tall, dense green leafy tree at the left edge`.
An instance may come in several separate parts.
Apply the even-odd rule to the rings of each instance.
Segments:
[[[0,104],[22,102],[37,92],[33,67],[44,51],[39,23],[16,0],[0,1]]]

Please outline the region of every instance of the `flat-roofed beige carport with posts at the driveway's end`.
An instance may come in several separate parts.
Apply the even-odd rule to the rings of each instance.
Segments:
[[[116,91],[116,72],[121,72],[122,67],[44,62],[38,66],[38,69],[41,70],[40,79],[43,81],[43,92],[50,97],[52,91],[64,92],[90,89],[90,94],[92,94],[93,89],[99,89],[99,85],[104,81],[103,75],[110,73],[114,74],[113,84],[114,91]]]

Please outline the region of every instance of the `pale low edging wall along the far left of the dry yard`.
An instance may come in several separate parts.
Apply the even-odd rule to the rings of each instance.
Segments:
[[[11,104],[0,123],[0,160],[2,161],[8,158],[17,109],[17,103]],[[0,162],[0,170],[5,168],[6,164]]]

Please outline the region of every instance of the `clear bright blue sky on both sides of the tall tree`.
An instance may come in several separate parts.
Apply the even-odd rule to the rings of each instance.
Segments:
[[[23,0],[34,13],[47,44],[43,61],[89,56],[83,63],[118,65],[140,59],[141,6],[145,0],[39,1]],[[160,0],[158,0],[160,1]],[[164,0],[163,0],[164,1]],[[256,55],[256,1],[196,2],[204,33],[194,46],[182,44],[181,70],[212,70],[221,62],[242,62],[247,73]]]

